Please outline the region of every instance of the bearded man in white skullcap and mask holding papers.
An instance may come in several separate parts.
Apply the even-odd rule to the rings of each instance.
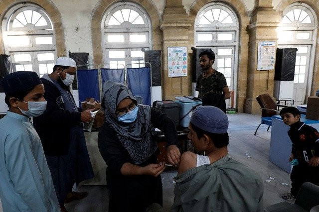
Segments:
[[[53,72],[41,78],[46,110],[33,119],[62,212],[66,211],[65,202],[87,196],[86,192],[72,192],[74,183],[78,185],[94,177],[82,124],[93,118],[90,111],[82,111],[76,106],[70,92],[75,71],[73,59],[59,57],[56,60]]]

